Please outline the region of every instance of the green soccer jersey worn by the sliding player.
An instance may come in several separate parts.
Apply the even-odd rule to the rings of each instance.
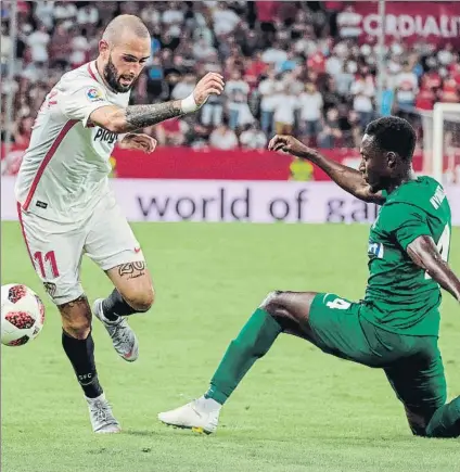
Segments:
[[[416,266],[407,246],[431,235],[447,260],[450,207],[443,188],[431,177],[403,183],[387,195],[369,235],[369,280],[362,316],[387,331],[437,335],[439,285]]]

